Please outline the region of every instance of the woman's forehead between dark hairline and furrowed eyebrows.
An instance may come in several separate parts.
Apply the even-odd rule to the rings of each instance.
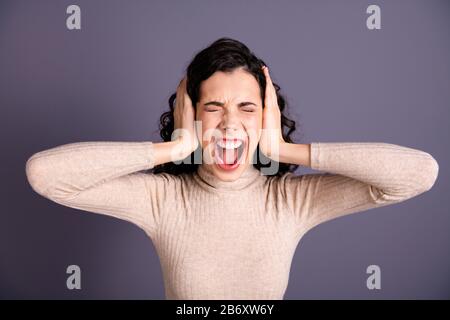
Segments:
[[[243,69],[231,73],[216,71],[200,85],[201,99],[258,98],[260,89],[255,77]]]

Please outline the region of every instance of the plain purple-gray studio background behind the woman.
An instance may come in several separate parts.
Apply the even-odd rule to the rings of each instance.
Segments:
[[[66,29],[72,3],[80,31]],[[381,30],[366,28],[369,4]],[[431,191],[306,234],[285,298],[449,298],[449,13],[450,1],[2,0],[0,297],[164,298],[143,231],[40,197],[25,161],[70,142],[159,141],[184,68],[229,36],[269,65],[297,142],[383,141],[440,164]],[[70,264],[79,291],[65,287]],[[370,264],[381,290],[366,288]]]

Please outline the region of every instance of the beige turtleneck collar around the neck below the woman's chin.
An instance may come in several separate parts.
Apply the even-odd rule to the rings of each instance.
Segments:
[[[263,177],[261,172],[252,164],[242,172],[241,176],[234,181],[223,181],[217,178],[213,173],[209,172],[205,165],[201,164],[197,167],[196,178],[210,187],[217,190],[242,190],[255,182],[258,178]]]

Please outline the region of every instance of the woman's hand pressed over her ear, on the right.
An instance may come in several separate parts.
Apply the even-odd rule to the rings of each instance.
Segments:
[[[280,161],[280,149],[285,143],[281,131],[281,111],[275,87],[270,79],[269,69],[266,66],[263,66],[262,69],[266,76],[266,92],[259,148],[266,157]]]

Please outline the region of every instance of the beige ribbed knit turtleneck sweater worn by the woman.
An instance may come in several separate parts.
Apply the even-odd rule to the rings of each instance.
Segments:
[[[79,142],[34,154],[26,173],[40,195],[127,220],[152,239],[167,299],[283,299],[301,237],[319,223],[429,190],[438,164],[388,143],[311,143],[323,172],[264,176],[250,166],[224,182],[199,166],[143,172],[152,142]]]

